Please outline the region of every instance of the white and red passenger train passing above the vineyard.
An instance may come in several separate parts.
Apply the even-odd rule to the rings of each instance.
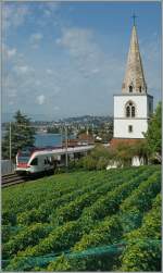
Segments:
[[[17,152],[16,154],[16,173],[37,174],[41,172],[53,171],[58,165],[65,161],[65,153],[68,158],[76,154],[86,154],[95,146],[76,146],[76,147],[51,147],[51,148],[32,148]]]

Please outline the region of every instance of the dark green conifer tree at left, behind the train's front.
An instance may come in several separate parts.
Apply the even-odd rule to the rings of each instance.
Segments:
[[[7,126],[7,134],[2,141],[2,158],[10,158],[10,126],[11,126],[11,158],[15,159],[22,148],[32,147],[35,142],[35,128],[30,126],[30,119],[17,111],[14,122]]]

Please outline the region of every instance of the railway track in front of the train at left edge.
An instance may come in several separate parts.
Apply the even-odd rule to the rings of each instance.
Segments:
[[[27,177],[17,175],[15,173],[5,174],[5,175],[2,175],[1,186],[9,187],[9,186],[21,184],[27,181],[28,181]]]

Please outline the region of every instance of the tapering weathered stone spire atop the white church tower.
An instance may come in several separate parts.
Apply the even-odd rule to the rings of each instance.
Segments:
[[[147,92],[147,85],[143,75],[137,29],[135,24],[136,16],[134,15],[133,17],[134,17],[134,26],[131,30],[125,78],[122,86],[122,92],[130,95]]]

